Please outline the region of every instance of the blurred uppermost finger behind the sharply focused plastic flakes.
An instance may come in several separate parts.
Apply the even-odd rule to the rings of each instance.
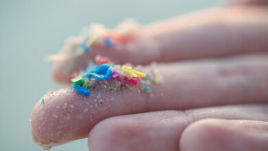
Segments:
[[[146,65],[152,61],[170,62],[267,51],[267,15],[268,9],[264,6],[245,5],[204,10],[159,21],[139,31],[139,36],[131,42],[131,51],[96,46],[89,55],[57,62],[53,75],[60,82],[68,82],[71,73],[85,68],[88,60],[96,54],[108,56],[116,63]],[[72,41],[65,51],[80,46],[82,39]]]

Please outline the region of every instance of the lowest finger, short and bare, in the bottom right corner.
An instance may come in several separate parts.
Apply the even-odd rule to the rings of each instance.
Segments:
[[[268,150],[267,121],[207,119],[190,125],[181,136],[181,151]]]

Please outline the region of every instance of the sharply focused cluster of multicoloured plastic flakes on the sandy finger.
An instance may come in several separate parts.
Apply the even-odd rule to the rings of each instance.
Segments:
[[[71,79],[71,82],[74,91],[87,96],[93,89],[119,91],[131,87],[132,90],[137,90],[134,89],[137,87],[147,93],[150,92],[150,85],[154,82],[153,74],[137,71],[137,69],[142,70],[141,67],[131,67],[131,65],[120,66],[113,63],[96,65],[91,62],[87,71]]]

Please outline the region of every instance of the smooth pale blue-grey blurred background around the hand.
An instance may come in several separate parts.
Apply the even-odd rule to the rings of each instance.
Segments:
[[[221,0],[1,0],[0,1],[0,150],[43,150],[32,141],[30,115],[47,91],[60,89],[43,57],[55,54],[65,38],[89,23],[115,27],[133,18],[146,24],[221,5]],[[87,139],[52,150],[85,151]]]

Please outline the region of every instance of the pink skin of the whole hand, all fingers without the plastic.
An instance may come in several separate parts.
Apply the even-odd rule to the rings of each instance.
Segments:
[[[120,56],[93,46],[118,63],[160,62],[164,83],[150,95],[94,92],[103,104],[68,88],[47,93],[32,111],[34,141],[57,146],[88,137],[91,151],[268,150],[267,1],[245,3],[146,25],[134,51]],[[63,51],[81,41],[72,40]],[[57,62],[54,78],[68,83],[95,55]]]

